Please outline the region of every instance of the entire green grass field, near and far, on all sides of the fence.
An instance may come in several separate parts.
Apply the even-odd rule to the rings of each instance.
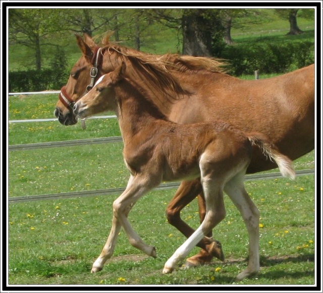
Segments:
[[[313,29],[301,19],[299,26],[308,31]],[[255,28],[248,33],[233,31],[233,38],[244,41],[249,36],[252,41],[252,38],[273,34],[281,38],[286,30],[288,23],[283,26],[278,20],[267,24],[262,31]],[[153,52],[158,53],[161,48],[165,52],[175,41],[174,38],[173,44],[156,46]],[[75,52],[71,50],[71,56],[76,61],[78,48]],[[26,60],[26,55],[21,57]],[[14,51],[10,58],[17,61],[11,66],[17,67],[19,52]],[[57,100],[57,94],[11,96],[9,120],[52,118]],[[9,145],[120,136],[116,119],[88,119],[86,125],[82,130],[79,124],[66,127],[57,121],[10,123]],[[124,187],[129,173],[123,163],[122,147],[122,143],[110,143],[12,151],[9,153],[9,197]],[[295,169],[314,168],[314,155],[312,151],[296,160]],[[179,264],[172,274],[161,273],[167,259],[185,241],[167,223],[165,209],[176,192],[169,189],[150,192],[129,214],[131,224],[142,239],[156,247],[157,258],[132,247],[122,230],[113,258],[95,274],[90,274],[90,269],[109,234],[112,203],[118,194],[10,204],[9,284],[120,285],[123,289],[132,285],[209,285],[215,289],[219,285],[272,286],[274,289],[281,285],[314,285],[319,277],[315,252],[321,249],[317,246],[315,231],[315,176],[304,175],[295,181],[258,180],[246,182],[245,186],[261,216],[261,270],[252,278],[235,281],[247,265],[248,236],[241,216],[227,196],[227,216],[213,229],[213,238],[223,244],[225,261],[214,259],[209,265],[189,270],[182,270]],[[192,227],[198,226],[196,200],[184,208],[181,217]],[[197,252],[195,248],[190,256]]]

